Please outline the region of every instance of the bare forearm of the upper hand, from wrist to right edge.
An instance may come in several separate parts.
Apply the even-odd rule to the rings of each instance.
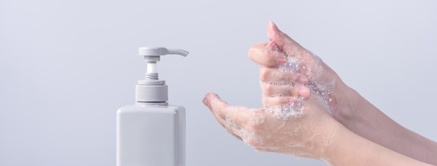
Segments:
[[[436,142],[399,125],[356,91],[352,90],[350,96],[350,102],[355,103],[349,114],[339,119],[347,128],[405,156],[437,165]]]

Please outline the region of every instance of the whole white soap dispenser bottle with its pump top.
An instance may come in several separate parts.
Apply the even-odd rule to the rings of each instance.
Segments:
[[[184,166],[185,108],[168,105],[168,86],[158,80],[162,55],[188,55],[184,50],[140,47],[147,61],[145,80],[138,80],[135,105],[117,110],[117,166]]]

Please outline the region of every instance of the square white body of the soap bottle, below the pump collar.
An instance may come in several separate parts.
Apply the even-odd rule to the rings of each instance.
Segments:
[[[184,166],[185,108],[136,103],[117,110],[117,166]]]

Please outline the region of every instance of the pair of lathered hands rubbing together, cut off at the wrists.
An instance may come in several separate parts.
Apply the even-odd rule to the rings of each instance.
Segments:
[[[203,103],[229,133],[259,151],[323,159],[329,155],[336,121],[329,116],[332,80],[323,80],[325,66],[269,22],[270,43],[255,45],[249,57],[260,65],[265,107],[231,106],[214,93]],[[327,67],[327,66],[326,66]],[[313,82],[323,82],[319,84]],[[315,95],[310,95],[311,91]],[[331,99],[330,103],[325,102]]]

